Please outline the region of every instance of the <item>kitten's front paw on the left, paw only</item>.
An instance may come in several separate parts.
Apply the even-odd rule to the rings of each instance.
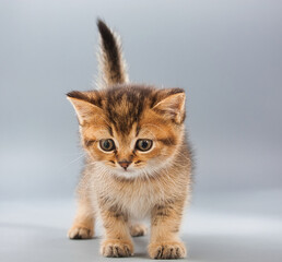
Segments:
[[[101,243],[101,253],[108,258],[124,258],[133,255],[131,241],[120,239],[106,239]]]

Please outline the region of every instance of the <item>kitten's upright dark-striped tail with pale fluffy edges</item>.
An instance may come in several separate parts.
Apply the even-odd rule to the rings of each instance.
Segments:
[[[119,36],[98,20],[99,43],[99,87],[107,88],[128,82],[127,66],[122,59]],[[101,86],[102,85],[102,86]]]

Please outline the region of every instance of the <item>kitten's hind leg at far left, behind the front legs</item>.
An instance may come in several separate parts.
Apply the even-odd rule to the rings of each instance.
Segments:
[[[94,236],[94,209],[89,198],[80,198],[77,215],[68,236],[70,239],[86,239]]]

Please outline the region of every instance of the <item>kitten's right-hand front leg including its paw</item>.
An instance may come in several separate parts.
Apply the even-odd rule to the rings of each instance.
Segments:
[[[186,255],[185,246],[178,237],[184,203],[177,201],[153,209],[148,247],[152,259],[180,259]]]

